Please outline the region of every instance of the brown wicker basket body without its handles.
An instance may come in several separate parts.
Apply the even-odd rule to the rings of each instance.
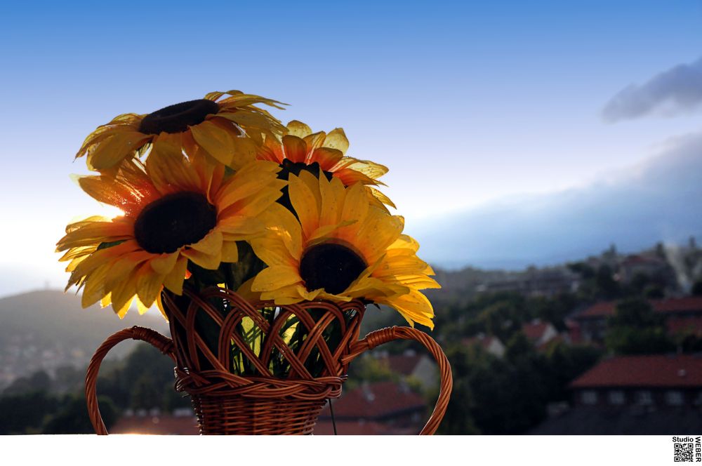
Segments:
[[[192,397],[200,432],[311,433],[326,399],[341,394],[348,367],[342,359],[358,339],[363,303],[319,301],[274,306],[272,302],[249,302],[223,288],[184,294],[180,299],[164,294],[164,305],[176,346],[176,390]],[[223,316],[213,302],[225,302],[227,314]],[[265,307],[277,310],[272,322],[262,317],[260,309]],[[196,328],[198,313],[206,314],[220,329],[214,350]],[[304,342],[294,350],[281,335],[291,318],[305,329]],[[262,335],[257,350],[237,331],[244,319],[250,319]],[[324,338],[331,326],[342,335],[335,347],[329,347]],[[232,347],[241,352],[256,375],[232,373]],[[277,355],[289,364],[286,378],[272,373],[270,362]],[[322,363],[316,377],[310,373],[308,361],[314,355]]]

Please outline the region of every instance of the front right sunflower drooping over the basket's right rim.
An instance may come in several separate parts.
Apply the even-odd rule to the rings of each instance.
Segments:
[[[345,188],[339,178],[303,171],[290,175],[289,192],[299,221],[279,204],[267,210],[267,233],[249,242],[269,267],[242,291],[278,305],[360,298],[433,327],[432,305],[419,290],[439,284],[417,257],[417,242],[402,234],[402,217],[373,205],[364,185]]]

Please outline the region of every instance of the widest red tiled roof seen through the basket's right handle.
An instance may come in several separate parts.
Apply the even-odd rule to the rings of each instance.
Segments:
[[[379,419],[407,411],[423,410],[422,397],[404,389],[395,382],[377,382],[346,392],[332,401],[334,415],[339,418]],[[322,417],[329,417],[329,405],[324,406]]]

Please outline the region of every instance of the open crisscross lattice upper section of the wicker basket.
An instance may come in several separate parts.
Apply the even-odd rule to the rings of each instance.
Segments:
[[[249,302],[223,288],[208,288],[197,295],[187,291],[184,294],[186,299],[181,302],[177,302],[173,295],[164,295],[171,335],[176,345],[178,390],[194,395],[237,394],[247,397],[253,394],[256,398],[292,397],[305,400],[327,399],[340,394],[342,376],[347,370],[347,364],[343,364],[341,359],[358,339],[365,310],[362,302],[336,305],[313,301],[274,306],[272,302]],[[229,309],[225,317],[211,304],[211,300],[227,302]],[[187,308],[183,309],[182,304]],[[272,323],[261,316],[259,309],[264,307],[277,309]],[[314,319],[312,309],[322,311],[322,317]],[[220,328],[216,354],[197,331],[195,323],[199,312],[206,314]],[[306,329],[304,342],[296,351],[280,334],[291,317]],[[263,345],[257,352],[237,332],[237,326],[246,318],[251,319],[264,335]],[[343,335],[333,348],[324,339],[324,333],[330,326],[336,326]],[[256,368],[256,375],[242,377],[232,373],[232,347],[236,347]],[[286,378],[274,377],[271,373],[270,360],[274,354],[279,354],[290,365]],[[306,366],[312,354],[319,354],[324,367],[317,377]]]

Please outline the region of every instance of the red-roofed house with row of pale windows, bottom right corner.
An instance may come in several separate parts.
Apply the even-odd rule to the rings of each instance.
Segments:
[[[612,357],[569,388],[573,406],[529,434],[677,435],[702,430],[701,356]]]

